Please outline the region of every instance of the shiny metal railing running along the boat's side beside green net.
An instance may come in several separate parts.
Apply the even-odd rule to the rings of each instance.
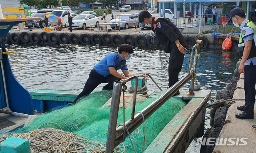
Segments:
[[[158,97],[155,101],[150,103],[147,107],[142,109],[140,113],[135,113],[135,105],[136,105],[136,88],[138,85],[138,78],[132,76],[128,79],[122,79],[120,81],[114,81],[111,108],[110,108],[110,118],[108,124],[108,135],[106,142],[106,153],[113,153],[113,150],[116,146],[122,143],[126,137],[128,137],[128,133],[132,133],[136,128],[138,128],[148,117],[150,117],[156,110],[158,110],[168,99],[170,99],[183,85],[185,85],[188,81],[190,82],[189,94],[194,95],[194,79],[196,77],[196,67],[199,58],[199,50],[200,44],[203,44],[202,40],[197,40],[197,44],[194,45],[191,51],[190,56],[190,64],[188,74],[182,77],[177,83],[175,83],[172,87],[170,87],[165,93],[163,93],[160,97]],[[192,65],[192,58],[194,53],[194,63]],[[192,65],[192,67],[191,67]],[[118,119],[118,111],[120,104],[120,96],[122,86],[125,85],[128,81],[135,79],[134,85],[134,97],[133,97],[133,105],[132,105],[132,114],[131,118],[126,121],[124,124],[120,124],[117,128],[117,119]],[[126,132],[128,131],[128,132]]]

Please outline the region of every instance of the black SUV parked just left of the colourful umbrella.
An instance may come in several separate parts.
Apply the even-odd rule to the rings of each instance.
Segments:
[[[48,26],[48,18],[46,18],[45,14],[51,14],[52,11],[57,9],[42,9],[38,10],[36,13],[32,14],[30,18],[42,18],[42,20],[38,21],[26,21],[25,26],[28,28],[32,28],[33,26],[36,28],[44,28]]]

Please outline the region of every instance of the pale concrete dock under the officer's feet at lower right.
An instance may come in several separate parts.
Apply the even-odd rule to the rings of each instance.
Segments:
[[[240,79],[237,82],[237,87],[244,87],[244,74],[240,75]],[[244,99],[244,89],[236,89],[234,91],[233,99]],[[223,126],[220,132],[219,139],[227,138],[226,145],[216,145],[213,153],[255,153],[256,145],[256,130],[252,129],[252,124],[256,124],[256,117],[254,119],[238,119],[235,117],[236,113],[241,113],[236,107],[238,105],[244,105],[245,101],[236,101],[228,108],[226,115],[226,125]],[[254,114],[256,114],[256,108],[254,107]],[[255,116],[255,115],[254,115]],[[231,139],[230,139],[231,138]],[[240,139],[238,141],[238,138]],[[241,141],[241,138],[242,139]],[[234,141],[232,144],[231,141]],[[244,142],[246,141],[246,142]]]

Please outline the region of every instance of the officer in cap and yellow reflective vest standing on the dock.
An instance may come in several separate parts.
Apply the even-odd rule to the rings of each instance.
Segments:
[[[241,8],[234,8],[230,11],[228,22],[231,20],[234,26],[241,29],[238,53],[242,60],[238,71],[239,73],[244,73],[245,91],[245,104],[237,107],[238,110],[243,112],[237,113],[236,117],[240,119],[253,119],[256,95],[256,38],[254,38],[256,26],[245,18],[244,10]]]

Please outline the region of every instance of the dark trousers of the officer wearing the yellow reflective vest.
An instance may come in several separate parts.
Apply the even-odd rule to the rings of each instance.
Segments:
[[[245,106],[244,111],[253,115],[255,103],[255,83],[256,83],[256,65],[252,62],[250,66],[244,66],[244,91],[245,91]]]

